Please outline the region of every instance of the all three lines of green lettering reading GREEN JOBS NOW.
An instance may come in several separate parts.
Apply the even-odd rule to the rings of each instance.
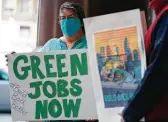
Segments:
[[[71,117],[71,112],[73,117],[78,117],[81,98],[79,96],[82,94],[81,80],[74,78],[71,81],[62,79],[63,77],[79,76],[88,74],[88,64],[87,64],[87,54],[80,54],[81,59],[77,54],[70,55],[69,68],[66,68],[67,57],[65,54],[57,55],[44,55],[44,60],[38,56],[27,56],[20,55],[16,57],[13,62],[13,71],[15,76],[19,80],[26,80],[30,75],[35,82],[30,82],[30,88],[34,89],[34,93],[29,93],[30,99],[38,99],[40,96],[44,95],[45,98],[50,98],[49,100],[37,100],[36,101],[36,119],[46,119],[48,118],[48,113],[53,118],[58,118],[61,116],[62,111],[64,111],[65,117]],[[44,61],[44,64],[42,63]],[[23,63],[21,69],[18,69],[20,63]],[[56,68],[54,68],[54,63]],[[40,69],[41,65],[45,67],[45,73]],[[53,70],[54,69],[54,70]],[[67,71],[65,70],[67,69]],[[56,71],[55,71],[56,70]],[[19,72],[20,71],[20,72]],[[44,78],[61,78],[57,81],[42,81]],[[37,81],[37,78],[40,80]],[[70,86],[70,87],[69,87]],[[48,90],[50,88],[50,91]],[[42,94],[43,93],[43,94]],[[42,94],[42,95],[41,95]],[[73,99],[67,99],[71,95]],[[55,99],[55,98],[62,99]]]

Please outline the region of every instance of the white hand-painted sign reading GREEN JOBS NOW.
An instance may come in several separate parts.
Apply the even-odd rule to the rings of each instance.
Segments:
[[[86,50],[9,55],[12,119],[97,119]]]

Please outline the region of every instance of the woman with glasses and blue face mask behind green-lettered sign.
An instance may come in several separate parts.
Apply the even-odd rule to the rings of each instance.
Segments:
[[[50,39],[42,48],[42,52],[69,49],[86,49],[83,9],[75,3],[65,2],[60,7],[59,23],[63,37]],[[51,121],[51,122],[74,122],[74,121]],[[76,122],[76,121],[75,121]],[[80,120],[79,122],[85,122]]]

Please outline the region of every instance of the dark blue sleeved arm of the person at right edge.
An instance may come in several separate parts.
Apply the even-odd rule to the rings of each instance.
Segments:
[[[168,85],[168,57],[166,55],[168,52],[168,16],[160,22],[164,25],[160,24],[155,34],[152,63],[147,68],[134,98],[123,111],[123,118],[126,122],[139,122],[142,117],[150,113],[159,103]]]

